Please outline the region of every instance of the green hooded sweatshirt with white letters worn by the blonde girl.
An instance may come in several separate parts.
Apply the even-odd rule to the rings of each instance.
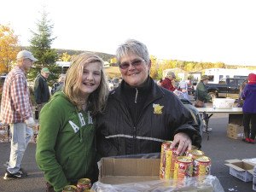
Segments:
[[[55,191],[79,178],[97,177],[95,123],[60,91],[41,110],[36,151],[38,167]]]

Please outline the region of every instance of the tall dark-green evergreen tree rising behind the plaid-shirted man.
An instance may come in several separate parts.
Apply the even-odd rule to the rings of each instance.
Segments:
[[[49,67],[51,75],[50,79],[56,79],[58,73],[60,73],[60,67],[55,65],[55,61],[58,59],[58,54],[55,49],[51,49],[51,44],[55,40],[52,38],[53,24],[47,19],[47,13],[43,12],[42,20],[38,20],[36,32],[32,32],[32,38],[30,39],[30,49],[32,54],[38,59],[34,64],[35,68],[31,70],[30,77],[34,79],[40,72],[42,67]]]

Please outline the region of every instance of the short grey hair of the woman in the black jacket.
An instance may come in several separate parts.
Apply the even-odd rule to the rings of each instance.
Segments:
[[[134,39],[128,39],[124,44],[120,44],[119,48],[116,50],[118,64],[120,64],[120,60],[123,56],[131,53],[142,57],[147,63],[150,60],[148,48],[145,44]]]

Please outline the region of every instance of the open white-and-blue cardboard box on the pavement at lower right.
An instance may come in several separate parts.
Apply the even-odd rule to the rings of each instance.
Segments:
[[[244,182],[253,181],[253,163],[242,160],[226,160],[230,166],[230,175],[241,179]]]

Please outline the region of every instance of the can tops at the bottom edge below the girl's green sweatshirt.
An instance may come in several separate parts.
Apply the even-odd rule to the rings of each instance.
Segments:
[[[89,192],[91,183],[89,178],[80,178],[77,186],[67,185],[62,189],[62,192]]]

